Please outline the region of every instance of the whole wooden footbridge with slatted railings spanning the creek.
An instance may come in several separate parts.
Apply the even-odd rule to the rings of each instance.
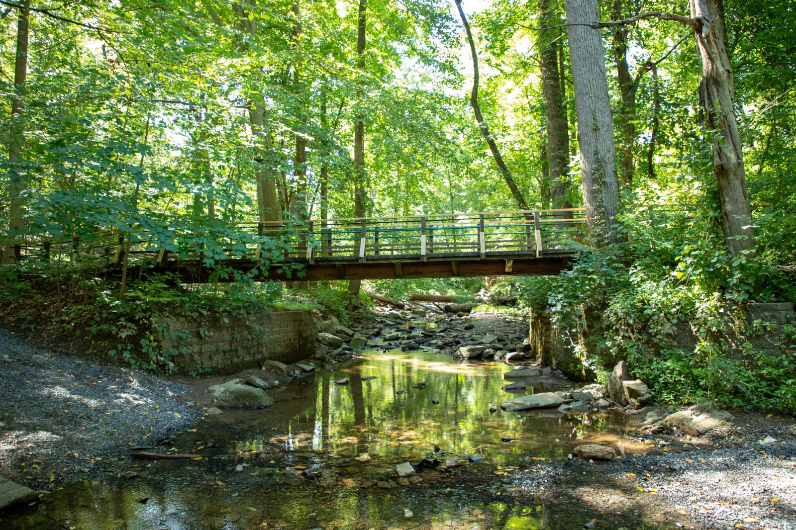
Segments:
[[[107,259],[185,283],[556,275],[587,239],[584,208],[137,229],[29,240],[21,259]],[[125,254],[127,259],[125,259]]]

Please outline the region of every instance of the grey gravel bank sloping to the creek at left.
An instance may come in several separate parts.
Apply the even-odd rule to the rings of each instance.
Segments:
[[[175,399],[190,392],[0,329],[0,479],[45,489],[112,467],[197,419]]]

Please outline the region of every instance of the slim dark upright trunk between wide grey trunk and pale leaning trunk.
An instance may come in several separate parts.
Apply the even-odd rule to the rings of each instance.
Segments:
[[[622,0],[611,3],[611,20],[622,20]],[[630,75],[627,64],[627,27],[619,25],[611,35],[612,52],[616,61],[616,74],[619,81],[619,93],[622,105],[619,107],[619,118],[622,119],[622,148],[619,160],[619,180],[626,192],[633,191],[633,148],[636,142],[636,89],[638,82]]]

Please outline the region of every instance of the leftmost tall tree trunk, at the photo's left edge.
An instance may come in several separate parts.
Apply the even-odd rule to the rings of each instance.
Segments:
[[[25,191],[27,177],[22,167],[22,114],[25,112],[25,81],[28,78],[28,27],[30,0],[21,2],[17,21],[17,57],[14,60],[14,100],[11,102],[11,130],[8,142],[9,162],[9,232],[25,228]],[[15,235],[16,236],[16,235]],[[9,263],[14,255],[13,245],[3,251],[2,263]]]

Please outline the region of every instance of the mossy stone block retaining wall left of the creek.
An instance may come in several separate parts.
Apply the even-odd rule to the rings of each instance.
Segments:
[[[228,322],[224,322],[228,321]],[[183,372],[211,369],[231,373],[259,367],[263,360],[290,364],[315,353],[315,323],[307,311],[227,317],[167,318],[164,349],[179,354],[175,364]]]

